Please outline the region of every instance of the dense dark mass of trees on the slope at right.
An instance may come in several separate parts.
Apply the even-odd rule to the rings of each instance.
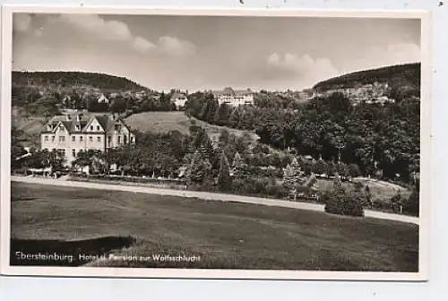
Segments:
[[[419,170],[420,100],[386,105],[359,104],[340,93],[296,109],[218,106],[195,93],[188,114],[214,125],[252,130],[260,142],[325,160],[356,164],[362,174],[409,180]]]

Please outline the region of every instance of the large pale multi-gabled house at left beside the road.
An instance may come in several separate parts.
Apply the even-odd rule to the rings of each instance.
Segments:
[[[80,150],[107,150],[134,143],[135,134],[112,114],[54,116],[40,133],[42,150],[60,150],[70,166]]]

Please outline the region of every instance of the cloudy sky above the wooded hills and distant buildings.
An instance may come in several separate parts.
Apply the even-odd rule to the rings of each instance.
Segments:
[[[15,14],[13,69],[125,76],[157,90],[304,89],[420,61],[409,19]]]

